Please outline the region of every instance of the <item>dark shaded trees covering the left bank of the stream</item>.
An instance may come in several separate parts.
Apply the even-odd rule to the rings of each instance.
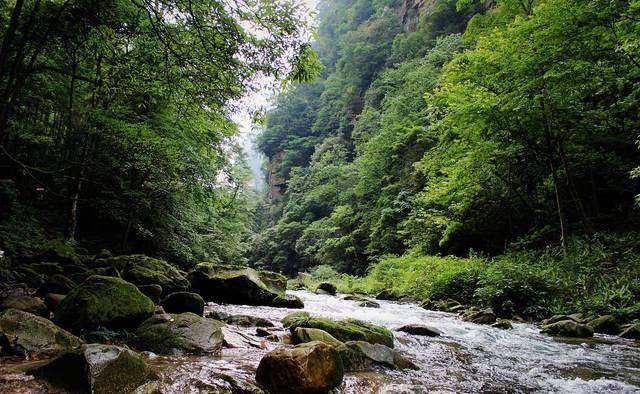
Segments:
[[[294,1],[3,1],[0,248],[60,237],[239,260],[250,209],[231,104],[260,78],[318,72],[302,12]]]

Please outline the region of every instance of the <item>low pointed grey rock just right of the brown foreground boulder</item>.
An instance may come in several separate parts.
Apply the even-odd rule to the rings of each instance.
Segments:
[[[418,369],[400,352],[381,344],[350,341],[337,348],[345,371],[367,371],[375,366],[391,369]]]

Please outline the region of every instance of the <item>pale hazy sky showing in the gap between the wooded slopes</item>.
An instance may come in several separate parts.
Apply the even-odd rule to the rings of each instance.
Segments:
[[[306,4],[309,10],[315,11],[318,0],[304,0],[303,3]],[[309,18],[311,18],[311,15],[309,15]],[[265,83],[264,85],[267,86],[269,84]],[[247,155],[247,162],[251,169],[251,173],[253,174],[253,179],[250,181],[250,187],[257,191],[262,191],[266,187],[265,176],[263,173],[263,164],[265,163],[266,158],[258,152],[253,142],[258,130],[251,121],[251,115],[254,111],[260,108],[268,108],[272,94],[271,89],[267,87],[248,94],[240,100],[240,103],[238,104],[240,110],[236,111],[231,116],[231,119],[239,126],[240,134],[238,140]]]

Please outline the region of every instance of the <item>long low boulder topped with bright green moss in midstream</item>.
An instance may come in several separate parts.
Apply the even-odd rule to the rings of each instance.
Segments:
[[[294,312],[282,319],[282,324],[291,331],[298,327],[324,330],[342,342],[365,341],[393,347],[393,333],[391,331],[361,320],[333,321],[311,317],[307,312]]]

